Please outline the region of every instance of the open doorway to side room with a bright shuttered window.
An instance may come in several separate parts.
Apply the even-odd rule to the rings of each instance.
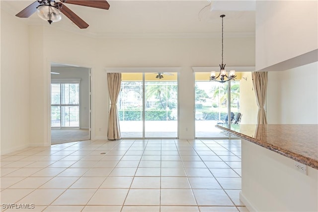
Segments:
[[[90,69],[51,63],[51,144],[90,140]]]

